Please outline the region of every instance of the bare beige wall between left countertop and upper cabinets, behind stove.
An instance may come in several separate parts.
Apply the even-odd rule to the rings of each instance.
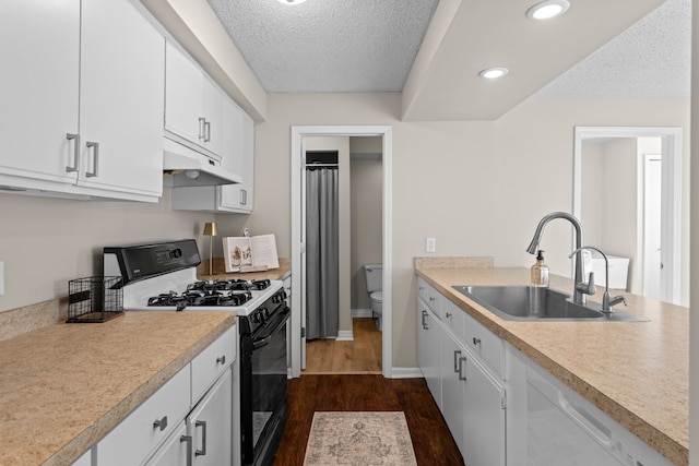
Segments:
[[[64,297],[68,280],[102,275],[107,246],[194,238],[209,255],[201,232],[213,215],[171,211],[170,192],[157,204],[0,194],[0,311]]]

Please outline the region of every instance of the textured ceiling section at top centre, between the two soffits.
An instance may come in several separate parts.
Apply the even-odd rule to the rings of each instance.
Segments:
[[[437,0],[208,0],[268,92],[400,92]]]

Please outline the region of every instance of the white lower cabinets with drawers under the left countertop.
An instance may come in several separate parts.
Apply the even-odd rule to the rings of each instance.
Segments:
[[[233,325],[93,446],[93,466],[237,464],[236,347]]]

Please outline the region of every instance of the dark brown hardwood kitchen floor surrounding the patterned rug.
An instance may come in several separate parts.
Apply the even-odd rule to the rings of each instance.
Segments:
[[[288,383],[288,418],[274,466],[301,466],[315,411],[403,411],[419,466],[463,465],[424,379],[310,375]]]

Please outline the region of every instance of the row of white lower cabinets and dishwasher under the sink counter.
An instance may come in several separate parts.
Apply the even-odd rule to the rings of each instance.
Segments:
[[[423,278],[417,294],[417,360],[466,465],[671,464]]]

